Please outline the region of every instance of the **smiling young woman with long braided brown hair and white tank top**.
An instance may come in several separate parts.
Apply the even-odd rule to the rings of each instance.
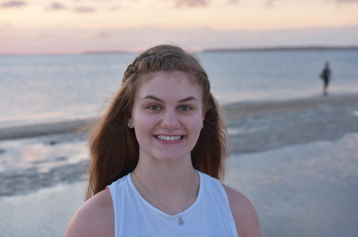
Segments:
[[[250,201],[218,180],[225,138],[195,57],[146,50],[92,133],[88,200],[65,236],[260,237]]]

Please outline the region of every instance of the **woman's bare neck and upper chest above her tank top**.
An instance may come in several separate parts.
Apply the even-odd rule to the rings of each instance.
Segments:
[[[144,199],[170,215],[195,202],[200,183],[190,157],[175,164],[140,158],[131,177]]]

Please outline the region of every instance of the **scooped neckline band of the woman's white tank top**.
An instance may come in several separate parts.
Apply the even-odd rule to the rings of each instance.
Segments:
[[[199,179],[200,179],[200,183],[199,183],[199,192],[197,194],[197,197],[196,197],[196,200],[195,202],[190,206],[188,207],[187,209],[184,210],[184,213],[182,216],[185,216],[186,214],[188,214],[191,210],[193,210],[195,208],[195,206],[199,203],[200,201],[200,198],[201,198],[201,194],[202,194],[202,189],[203,189],[203,186],[202,186],[202,174],[201,172],[195,170],[198,174],[199,174]],[[145,206],[147,206],[150,210],[152,210],[153,212],[163,216],[163,217],[166,217],[166,218],[169,218],[169,219],[177,219],[178,218],[178,215],[180,216],[181,215],[181,212],[178,213],[178,214],[175,214],[175,215],[169,215],[161,210],[159,210],[158,208],[154,207],[152,204],[150,204],[147,200],[145,200],[142,195],[139,193],[139,191],[137,190],[136,186],[134,186],[133,184],[133,181],[132,181],[132,176],[131,176],[131,173],[128,174],[128,182],[129,182],[129,185],[131,187],[131,189],[133,190],[133,192],[136,194],[136,196],[143,202],[143,204]]]

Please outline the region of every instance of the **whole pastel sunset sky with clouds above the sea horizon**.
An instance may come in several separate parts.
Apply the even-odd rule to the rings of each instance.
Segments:
[[[358,45],[358,0],[0,0],[0,53]]]

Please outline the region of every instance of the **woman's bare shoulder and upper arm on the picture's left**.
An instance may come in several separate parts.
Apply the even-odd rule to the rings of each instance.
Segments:
[[[87,200],[72,217],[65,237],[113,237],[114,216],[112,197],[104,189]]]

